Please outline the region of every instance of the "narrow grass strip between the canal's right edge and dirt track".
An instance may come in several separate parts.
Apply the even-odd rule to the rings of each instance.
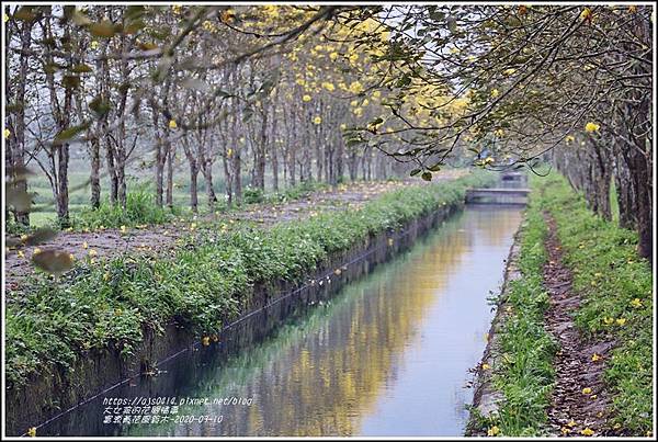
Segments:
[[[522,225],[518,267],[521,277],[510,281],[499,308],[504,322],[498,342],[500,353],[491,367],[491,383],[503,395],[497,412],[473,415],[474,428],[489,435],[529,437],[546,433],[546,407],[553,389],[553,358],[557,343],[544,329],[548,294],[543,287],[546,262],[546,225],[533,199]]]

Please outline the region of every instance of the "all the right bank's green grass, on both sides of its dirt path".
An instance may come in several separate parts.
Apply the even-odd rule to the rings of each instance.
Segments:
[[[542,285],[546,261],[546,225],[542,212],[557,223],[564,263],[581,297],[575,322],[583,339],[614,340],[605,362],[604,382],[612,399],[609,427],[626,435],[650,435],[653,406],[653,274],[637,258],[637,235],[595,216],[585,199],[555,173],[532,180],[532,201],[522,226],[519,267],[522,277],[510,283],[501,305],[508,309],[499,337],[500,363],[494,387],[503,394],[497,413],[473,416],[474,428],[489,435],[546,435],[552,360],[557,345],[544,330],[548,307]],[[544,192],[538,192],[543,188]]]

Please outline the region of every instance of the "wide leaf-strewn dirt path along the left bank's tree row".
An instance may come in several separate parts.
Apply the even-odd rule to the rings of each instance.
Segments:
[[[464,174],[461,170],[449,170],[436,173],[433,182],[453,180]],[[77,260],[90,253],[95,259],[111,258],[128,251],[162,252],[175,247],[175,241],[189,235],[190,229],[207,223],[217,226],[231,220],[252,220],[263,226],[282,222],[299,220],[328,209],[358,208],[363,203],[383,193],[409,185],[423,185],[424,181],[409,179],[405,181],[355,182],[341,184],[336,189],[311,193],[307,197],[280,204],[259,204],[248,209],[222,215],[205,215],[198,219],[177,220],[170,224],[134,228],[104,229],[91,233],[60,233],[53,240],[39,245],[41,250],[64,249]],[[30,262],[35,247],[23,247],[20,250],[8,250],[4,258],[7,288],[20,288],[22,281],[34,272]]]

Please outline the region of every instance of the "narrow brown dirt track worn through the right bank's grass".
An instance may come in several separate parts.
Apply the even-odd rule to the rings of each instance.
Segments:
[[[557,339],[560,350],[554,361],[556,384],[548,420],[558,435],[603,435],[605,410],[610,405],[602,373],[612,342],[588,343],[574,324],[572,314],[580,297],[571,290],[572,275],[563,264],[563,250],[555,219],[544,214],[548,227],[544,285],[551,296],[545,314],[546,329]]]

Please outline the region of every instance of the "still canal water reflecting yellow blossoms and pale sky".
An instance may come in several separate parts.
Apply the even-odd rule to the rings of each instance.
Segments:
[[[462,435],[521,219],[467,206],[260,342],[182,354],[38,435]]]

